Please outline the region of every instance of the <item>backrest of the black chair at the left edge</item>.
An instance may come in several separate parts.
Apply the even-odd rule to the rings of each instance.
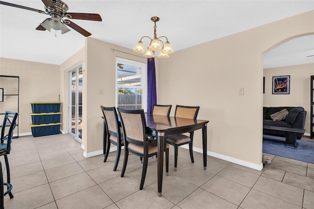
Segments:
[[[13,138],[13,130],[16,126],[16,119],[18,118],[18,112],[9,112],[5,111],[3,123],[1,127],[1,143],[7,141],[6,145],[6,154],[10,154],[11,151],[11,142]]]

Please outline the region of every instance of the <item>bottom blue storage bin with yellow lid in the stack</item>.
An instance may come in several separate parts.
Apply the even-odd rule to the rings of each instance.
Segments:
[[[62,123],[40,124],[40,125],[29,124],[29,126],[31,127],[31,133],[33,137],[37,137],[37,136],[59,134],[61,124]]]

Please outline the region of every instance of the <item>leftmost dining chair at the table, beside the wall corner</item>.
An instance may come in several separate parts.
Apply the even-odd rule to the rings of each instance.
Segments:
[[[120,122],[118,119],[118,114],[116,108],[113,107],[105,107],[101,106],[103,114],[104,114],[104,147],[106,144],[105,151],[105,158],[104,162],[107,160],[110,150],[110,144],[114,144],[117,146],[117,154],[116,154],[116,161],[114,163],[113,171],[117,170],[120,154],[121,154],[121,147],[124,146],[123,136],[120,130]]]

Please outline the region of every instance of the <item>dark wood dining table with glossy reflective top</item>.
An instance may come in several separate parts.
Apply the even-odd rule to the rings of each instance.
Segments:
[[[158,196],[161,197],[162,172],[163,172],[163,152],[166,143],[165,137],[173,134],[186,133],[202,129],[203,138],[203,162],[204,170],[207,169],[207,124],[208,120],[194,120],[162,115],[146,115],[146,132],[156,136],[158,140],[157,150],[157,183]]]

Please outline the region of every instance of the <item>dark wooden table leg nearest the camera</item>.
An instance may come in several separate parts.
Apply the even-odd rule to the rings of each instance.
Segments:
[[[163,147],[164,147],[164,132],[158,132],[158,149],[157,149],[157,183],[158,197],[161,197],[162,188],[162,171],[163,171]]]

